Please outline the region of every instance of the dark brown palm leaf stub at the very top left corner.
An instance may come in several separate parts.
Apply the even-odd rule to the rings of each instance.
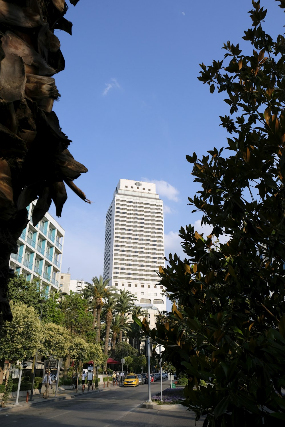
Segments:
[[[22,4],[24,2],[21,2]],[[0,22],[6,25],[34,28],[43,24],[36,2],[35,7],[22,7],[0,0]]]

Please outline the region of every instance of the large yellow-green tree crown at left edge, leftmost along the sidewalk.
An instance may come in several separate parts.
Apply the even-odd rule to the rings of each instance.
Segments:
[[[12,322],[4,322],[0,333],[0,359],[17,362],[33,357],[42,333],[38,314],[22,302],[11,303]]]

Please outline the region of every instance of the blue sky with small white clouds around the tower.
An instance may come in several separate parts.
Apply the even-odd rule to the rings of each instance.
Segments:
[[[264,29],[282,34],[278,4],[261,6],[268,8]],[[65,70],[55,76],[61,98],[53,109],[73,140],[72,155],[88,168],[76,185],[94,203],[67,189],[62,272],[70,268],[71,278],[85,281],[103,274],[105,216],[120,178],[157,183],[166,256],[181,254],[181,225],[201,231],[202,215],[187,205],[199,187],[185,155],[225,146],[219,116],[229,111],[223,94],[211,95],[197,80],[199,63],[222,59],[228,40],[252,52],[241,40],[251,8],[250,0],[81,0],[69,7],[73,35],[56,32]]]

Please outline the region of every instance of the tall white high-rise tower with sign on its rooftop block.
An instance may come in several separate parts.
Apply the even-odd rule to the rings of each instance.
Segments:
[[[106,214],[104,280],[129,290],[142,307],[166,310],[159,266],[165,266],[164,225],[156,185],[120,179]]]

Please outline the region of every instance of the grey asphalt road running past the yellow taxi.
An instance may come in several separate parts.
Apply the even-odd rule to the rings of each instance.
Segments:
[[[163,382],[163,388],[168,386]],[[160,391],[160,382],[151,384],[152,395]],[[194,415],[189,411],[158,411],[141,408],[148,399],[148,386],[116,387],[103,392],[85,392],[76,398],[46,401],[30,407],[3,411],[1,427],[194,427]],[[22,409],[23,408],[23,409]],[[196,423],[202,427],[202,421]]]

